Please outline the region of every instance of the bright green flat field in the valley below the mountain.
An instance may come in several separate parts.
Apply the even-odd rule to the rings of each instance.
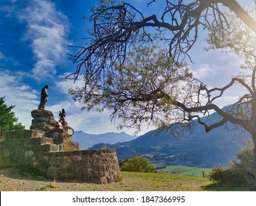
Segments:
[[[161,168],[157,170],[158,172],[170,173],[170,174],[181,174],[187,176],[202,177],[202,172],[207,176],[212,168],[198,168],[198,167],[188,167],[188,166],[167,166],[166,168]]]

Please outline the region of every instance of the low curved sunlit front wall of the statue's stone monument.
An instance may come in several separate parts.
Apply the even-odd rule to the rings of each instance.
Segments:
[[[118,182],[120,168],[115,149],[52,152],[49,177],[79,182]]]

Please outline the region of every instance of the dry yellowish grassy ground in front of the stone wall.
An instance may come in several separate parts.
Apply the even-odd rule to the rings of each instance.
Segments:
[[[49,180],[39,174],[0,169],[0,191],[249,191],[224,188],[208,178],[167,173],[121,172],[120,182],[92,184]]]

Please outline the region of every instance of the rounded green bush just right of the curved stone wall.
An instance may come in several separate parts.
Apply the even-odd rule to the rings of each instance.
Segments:
[[[155,172],[155,166],[151,165],[149,161],[143,157],[134,156],[131,159],[123,160],[120,163],[121,171],[134,172]]]

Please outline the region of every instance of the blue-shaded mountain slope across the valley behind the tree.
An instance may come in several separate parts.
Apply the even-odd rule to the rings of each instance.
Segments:
[[[218,120],[213,113],[204,120],[208,123]],[[111,148],[117,148],[120,159],[134,155],[147,157],[156,166],[181,165],[212,168],[214,166],[228,166],[230,160],[235,159],[235,153],[241,149],[249,133],[228,131],[223,127],[205,132],[204,127],[196,124],[193,132],[174,137],[167,131],[156,134],[150,131],[132,141],[115,143]],[[100,148],[103,145],[95,145]]]

